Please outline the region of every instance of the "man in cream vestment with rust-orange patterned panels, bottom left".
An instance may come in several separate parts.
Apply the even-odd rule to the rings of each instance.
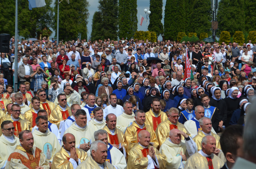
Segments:
[[[50,168],[44,153],[37,147],[33,147],[33,135],[28,130],[23,130],[19,134],[20,145],[9,156],[5,168]]]

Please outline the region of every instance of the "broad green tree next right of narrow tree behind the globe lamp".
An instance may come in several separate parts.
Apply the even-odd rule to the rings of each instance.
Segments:
[[[164,10],[164,37],[166,40],[176,40],[179,32],[188,33],[189,5],[188,0],[166,0]]]

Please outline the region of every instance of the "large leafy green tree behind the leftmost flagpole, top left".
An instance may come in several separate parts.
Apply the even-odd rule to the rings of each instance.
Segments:
[[[40,35],[45,27],[53,26],[53,9],[50,7],[52,0],[45,0],[46,6],[41,8],[28,9],[27,0],[18,1],[18,31],[19,35],[25,38]],[[12,9],[12,10],[11,10]],[[1,1],[0,25],[1,33],[15,34],[15,1]]]

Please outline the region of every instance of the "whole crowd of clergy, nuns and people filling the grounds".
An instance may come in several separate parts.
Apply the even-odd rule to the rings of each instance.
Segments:
[[[219,169],[255,162],[253,151],[243,150],[243,126],[254,118],[251,40],[22,40],[18,67],[14,46],[12,37],[0,60],[0,168]]]

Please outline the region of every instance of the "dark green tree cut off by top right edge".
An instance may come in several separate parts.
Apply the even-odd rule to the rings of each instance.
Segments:
[[[245,31],[256,30],[255,25],[255,11],[256,11],[256,1],[244,0],[244,12],[245,12]]]

